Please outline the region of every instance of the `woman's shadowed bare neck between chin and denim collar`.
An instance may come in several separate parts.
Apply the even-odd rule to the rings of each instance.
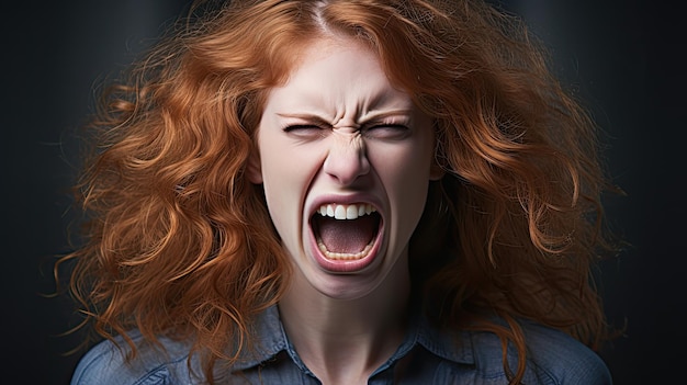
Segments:
[[[404,259],[371,293],[337,299],[316,291],[295,269],[279,308],[301,360],[325,384],[367,384],[396,351],[406,329],[409,275]]]

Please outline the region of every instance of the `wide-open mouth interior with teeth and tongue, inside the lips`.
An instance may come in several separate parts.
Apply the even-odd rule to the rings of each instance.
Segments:
[[[325,204],[311,218],[317,247],[330,260],[367,257],[376,240],[382,217],[365,203]]]

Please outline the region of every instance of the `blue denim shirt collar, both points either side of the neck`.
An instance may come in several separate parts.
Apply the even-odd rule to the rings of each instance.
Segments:
[[[421,312],[414,313],[417,316],[412,317],[408,333],[388,364],[399,360],[418,344],[443,360],[461,364],[475,363],[469,332],[440,330],[431,325]],[[254,349],[241,351],[239,360],[234,363],[234,371],[243,371],[262,364],[273,359],[281,351],[289,352],[292,359],[297,361],[296,364],[300,364],[297,355],[292,352],[293,348],[290,347],[277,305],[270,306],[256,318],[251,332],[255,336]]]

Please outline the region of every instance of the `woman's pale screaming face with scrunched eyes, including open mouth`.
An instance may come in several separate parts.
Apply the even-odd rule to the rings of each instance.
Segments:
[[[296,276],[330,297],[361,297],[407,264],[439,177],[431,122],[359,43],[318,39],[299,63],[267,99],[248,174],[264,186]]]

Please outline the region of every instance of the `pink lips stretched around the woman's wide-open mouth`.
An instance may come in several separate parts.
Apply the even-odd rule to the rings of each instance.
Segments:
[[[382,216],[382,224],[380,225],[380,230],[376,235],[376,239],[374,241],[374,246],[364,258],[357,260],[333,260],[326,258],[322,251],[319,251],[319,247],[317,246],[317,240],[315,239],[315,235],[312,231],[312,227],[309,226],[309,218],[315,215],[315,213],[319,210],[319,206],[323,204],[352,204],[352,203],[369,203],[373,205],[378,212],[381,214],[380,204],[375,196],[370,196],[368,194],[352,194],[352,195],[323,195],[318,196],[313,201],[309,207],[309,216],[308,220],[308,233],[309,233],[309,245],[311,252],[314,257],[317,264],[326,271],[333,273],[352,273],[361,271],[368,268],[372,262],[374,262],[375,257],[379,254],[380,248],[384,240],[384,218]]]

